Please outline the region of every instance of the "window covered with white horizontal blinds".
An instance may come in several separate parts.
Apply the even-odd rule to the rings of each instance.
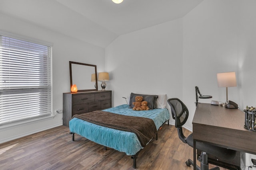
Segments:
[[[0,33],[0,125],[52,114],[51,47]]]

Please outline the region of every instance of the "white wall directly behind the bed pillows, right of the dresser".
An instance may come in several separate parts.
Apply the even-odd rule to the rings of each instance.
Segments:
[[[131,92],[182,97],[182,20],[134,31],[106,48],[113,104]],[[169,106],[168,106],[169,107]]]

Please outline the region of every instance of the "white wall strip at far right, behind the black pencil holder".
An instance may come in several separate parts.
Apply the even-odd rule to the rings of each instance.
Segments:
[[[238,68],[240,79],[240,104],[246,106],[256,105],[256,1],[238,1]],[[256,139],[255,139],[256,140]],[[242,153],[242,165],[252,165],[251,158],[256,155]],[[244,168],[247,169],[247,168]]]

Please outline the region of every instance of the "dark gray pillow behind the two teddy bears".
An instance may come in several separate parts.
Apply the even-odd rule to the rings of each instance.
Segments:
[[[136,96],[142,96],[143,101],[147,101],[148,102],[148,108],[149,109],[157,109],[157,95],[148,95],[148,94],[135,94],[135,93],[131,93],[130,95],[130,102],[129,102],[129,106],[130,108],[133,108],[134,105],[132,104],[132,102],[135,102],[135,97]]]

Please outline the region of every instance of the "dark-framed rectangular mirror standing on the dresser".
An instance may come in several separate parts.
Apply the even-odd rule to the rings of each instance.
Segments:
[[[78,92],[98,90],[96,65],[84,64],[70,61],[70,89],[72,84],[76,84]],[[95,79],[92,81],[94,75]]]

